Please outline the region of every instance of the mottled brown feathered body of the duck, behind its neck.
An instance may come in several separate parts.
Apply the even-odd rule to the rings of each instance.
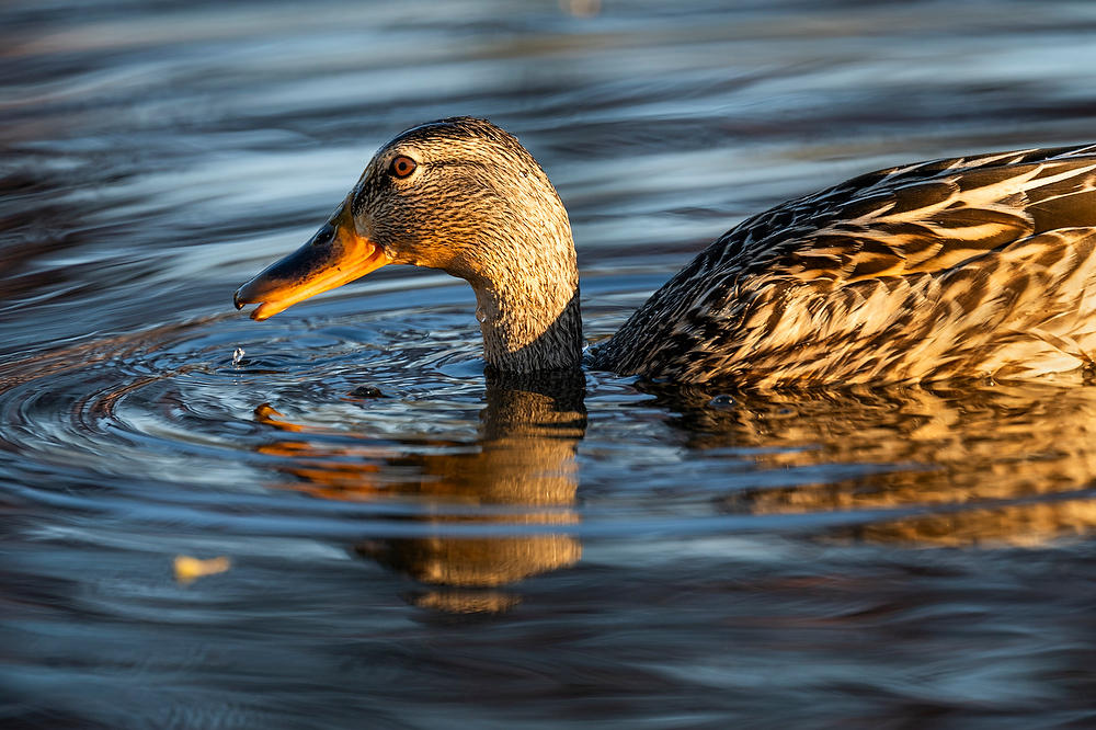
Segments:
[[[1096,145],[881,170],[728,231],[593,365],[767,385],[1073,369],[1094,233]]]

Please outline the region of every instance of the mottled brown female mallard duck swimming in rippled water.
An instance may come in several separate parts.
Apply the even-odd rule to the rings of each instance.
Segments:
[[[761,386],[1027,378],[1093,365],[1096,145],[891,168],[756,215],[591,365]],[[266,319],[388,263],[476,290],[487,362],[582,358],[567,210],[513,136],[468,117],[385,145],[300,250],[236,293]]]

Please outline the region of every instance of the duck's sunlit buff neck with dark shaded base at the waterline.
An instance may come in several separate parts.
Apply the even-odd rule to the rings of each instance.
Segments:
[[[483,356],[503,373],[571,369],[582,362],[582,316],[574,244],[523,248],[520,265],[471,281]]]

